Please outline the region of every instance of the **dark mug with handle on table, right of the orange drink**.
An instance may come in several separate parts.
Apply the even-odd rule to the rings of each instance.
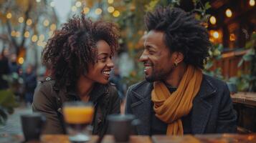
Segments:
[[[135,126],[140,124],[133,114],[111,114],[108,116],[109,133],[115,142],[128,142]]]

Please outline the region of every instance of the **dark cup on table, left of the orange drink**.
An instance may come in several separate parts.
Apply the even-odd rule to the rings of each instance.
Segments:
[[[21,120],[25,141],[39,140],[45,123],[44,115],[40,113],[23,114]]]

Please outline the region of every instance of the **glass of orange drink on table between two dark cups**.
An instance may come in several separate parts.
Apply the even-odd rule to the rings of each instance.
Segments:
[[[70,142],[90,140],[94,107],[90,102],[65,102],[63,114]]]

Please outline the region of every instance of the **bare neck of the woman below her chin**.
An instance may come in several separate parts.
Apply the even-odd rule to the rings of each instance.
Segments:
[[[89,97],[90,92],[92,91],[94,86],[94,82],[87,77],[81,75],[77,81],[77,93],[79,94],[81,99],[87,99]],[[87,101],[85,101],[87,102]]]

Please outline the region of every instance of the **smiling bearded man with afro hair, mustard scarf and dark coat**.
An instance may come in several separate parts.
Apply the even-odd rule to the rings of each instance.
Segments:
[[[194,15],[158,7],[145,17],[140,57],[146,80],[128,89],[125,114],[141,120],[137,134],[236,132],[227,84],[202,73],[211,43]]]

